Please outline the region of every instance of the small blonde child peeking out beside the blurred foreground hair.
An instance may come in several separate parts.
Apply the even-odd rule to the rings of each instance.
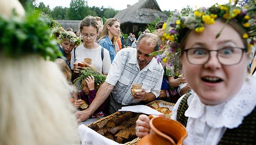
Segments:
[[[64,77],[67,79],[67,82],[69,84],[69,91],[71,93],[71,98],[70,101],[71,103],[74,103],[74,98],[78,97],[78,88],[74,85],[72,85],[71,82],[71,70],[69,69],[67,63],[62,60],[61,58],[57,58],[57,60],[55,60],[55,63],[59,66],[61,73],[64,75]]]

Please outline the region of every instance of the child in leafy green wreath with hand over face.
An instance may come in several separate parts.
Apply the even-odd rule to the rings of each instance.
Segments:
[[[78,97],[74,98],[74,107],[79,110],[84,110],[81,107],[82,104],[91,104],[96,96],[100,84],[102,84],[105,79],[105,75],[98,73],[98,71],[93,68],[85,68],[84,70],[81,70],[75,84],[80,82],[82,91],[79,93]],[[106,107],[107,100],[94,112],[94,114],[92,114],[91,118],[95,118],[96,115],[99,117],[106,117],[108,114]]]

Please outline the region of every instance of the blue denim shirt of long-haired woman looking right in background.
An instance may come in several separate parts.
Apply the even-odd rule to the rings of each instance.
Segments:
[[[116,51],[114,51],[114,45],[110,41],[110,38],[106,36],[105,38],[100,40],[99,44],[101,45],[101,47],[106,48],[110,52],[110,60],[112,63],[114,60],[114,57],[116,56]]]

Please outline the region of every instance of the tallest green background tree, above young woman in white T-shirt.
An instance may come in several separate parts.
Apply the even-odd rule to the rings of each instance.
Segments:
[[[68,17],[71,20],[81,20],[91,15],[88,2],[85,0],[71,0],[68,10]]]

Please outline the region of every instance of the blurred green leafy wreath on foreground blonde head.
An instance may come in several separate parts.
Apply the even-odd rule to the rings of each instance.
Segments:
[[[28,54],[39,54],[54,61],[61,56],[56,41],[50,38],[51,30],[46,19],[38,12],[26,12],[24,17],[15,13],[9,18],[0,16],[1,54],[17,58]]]

